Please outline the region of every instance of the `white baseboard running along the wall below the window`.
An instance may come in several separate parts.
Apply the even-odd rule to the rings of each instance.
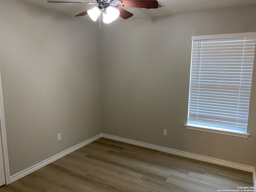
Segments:
[[[154,149],[154,150],[158,150],[158,151],[162,151],[162,152],[166,152],[166,153],[170,153],[170,154],[174,154],[174,155],[178,155],[178,156],[182,156],[182,157],[192,158],[192,159],[196,159],[196,160],[200,160],[200,161],[204,161],[204,162],[208,162],[208,163],[214,163],[214,164],[231,167],[231,168],[235,168],[235,169],[239,169],[239,170],[254,172],[254,167],[252,167],[252,166],[247,166],[247,165],[243,165],[243,164],[238,164],[238,163],[234,163],[234,162],[229,162],[229,161],[225,161],[225,160],[202,156],[202,155],[198,155],[198,154],[188,153],[188,152],[184,152],[184,151],[180,151],[180,150],[161,147],[161,146],[157,146],[157,145],[152,145],[152,144],[139,142],[139,141],[135,141],[135,140],[130,140],[130,139],[126,139],[126,138],[121,138],[121,137],[117,137],[117,136],[112,136],[112,135],[108,135],[108,134],[102,134],[102,137],[129,143],[129,144],[134,144],[137,146],[142,146],[142,147],[146,147],[146,148],[150,148],[150,149]],[[254,179],[255,179],[255,177],[254,177]]]

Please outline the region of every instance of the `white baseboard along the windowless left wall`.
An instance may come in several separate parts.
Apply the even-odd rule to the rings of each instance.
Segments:
[[[67,155],[67,154],[69,154],[69,153],[71,153],[75,150],[78,150],[79,148],[81,148],[83,146],[86,146],[87,144],[89,144],[91,142],[94,142],[95,140],[101,138],[101,135],[102,134],[98,134],[98,135],[96,135],[96,136],[94,136],[94,137],[92,137],[92,138],[90,138],[90,139],[88,139],[88,140],[86,140],[86,141],[84,141],[80,144],[77,144],[76,146],[73,146],[73,147],[71,147],[71,148],[69,148],[69,149],[67,149],[63,152],[60,152],[59,154],[56,154],[56,155],[54,155],[54,156],[52,156],[52,157],[50,157],[50,158],[48,158],[48,159],[46,159],[42,162],[30,167],[30,168],[27,168],[26,170],[23,170],[23,171],[21,171],[17,174],[14,174],[14,175],[10,176],[10,183],[28,175],[28,174],[30,174],[32,172],[34,172],[34,171],[36,171],[40,168],[42,168],[43,166],[46,166],[46,165],[58,160],[59,158],[62,158],[63,156],[65,156],[65,155]]]

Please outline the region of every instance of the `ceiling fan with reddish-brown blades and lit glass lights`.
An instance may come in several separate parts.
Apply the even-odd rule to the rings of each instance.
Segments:
[[[123,19],[128,19],[133,16],[132,13],[123,9],[123,7],[136,7],[136,8],[158,8],[157,0],[95,0],[96,2],[90,1],[71,1],[71,0],[48,0],[51,3],[83,3],[83,4],[95,4],[97,6],[92,7],[88,10],[77,14],[76,17],[84,16],[88,14],[94,21],[97,20],[100,14],[103,14],[103,22],[111,23],[116,20],[118,16]],[[113,2],[115,1],[115,2]]]

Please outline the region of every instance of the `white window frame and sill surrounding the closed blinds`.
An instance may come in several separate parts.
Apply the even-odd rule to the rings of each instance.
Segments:
[[[192,42],[193,42],[193,40],[244,38],[244,37],[256,38],[256,32],[192,36]],[[190,83],[189,83],[189,85],[191,84],[192,52],[193,52],[193,47],[191,44],[191,63],[190,63]],[[255,63],[256,63],[256,48],[255,48],[255,52],[254,52],[254,64]],[[189,86],[189,98],[188,98],[188,118],[189,118],[189,103],[190,103],[189,101],[190,101],[190,86]],[[224,135],[237,136],[237,137],[242,137],[242,138],[248,138],[248,136],[250,135],[248,133],[248,128],[247,128],[247,132],[240,132],[240,131],[231,130],[231,129],[227,130],[227,129],[222,129],[222,128],[213,128],[213,127],[202,126],[202,125],[188,124],[188,119],[187,119],[187,123],[185,124],[185,127],[188,130],[211,132],[211,133],[216,133],[216,134],[224,134]]]

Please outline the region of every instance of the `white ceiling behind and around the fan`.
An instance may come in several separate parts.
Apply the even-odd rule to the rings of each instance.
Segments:
[[[50,10],[56,10],[70,16],[75,16],[88,8],[95,5],[86,5],[78,3],[48,3],[46,0],[17,0],[47,8]],[[96,0],[90,0],[96,2]],[[165,7],[157,9],[144,9],[144,8],[125,8],[129,12],[132,12],[134,16],[130,19],[140,19],[156,16],[167,16],[174,14],[198,12],[204,10],[212,10],[234,6],[244,6],[256,4],[256,0],[159,0]],[[88,18],[88,16],[82,16],[80,18]],[[119,20],[123,20],[120,18]]]

